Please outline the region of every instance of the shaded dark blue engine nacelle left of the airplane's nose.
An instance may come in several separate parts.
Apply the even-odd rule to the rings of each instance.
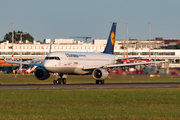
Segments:
[[[45,70],[43,67],[40,67],[36,69],[34,75],[38,80],[46,80],[47,78],[49,78],[50,73],[47,70]]]

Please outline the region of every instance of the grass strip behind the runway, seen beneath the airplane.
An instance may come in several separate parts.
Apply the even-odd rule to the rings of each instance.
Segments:
[[[34,75],[17,75],[17,78],[13,74],[0,74],[0,84],[53,84],[55,76],[51,75],[47,80],[37,80]],[[180,82],[180,76],[162,76],[162,77],[149,77],[149,75],[110,75],[105,83],[149,83],[149,82]],[[74,76],[69,75],[67,77],[67,84],[83,84],[83,83],[95,83],[92,75],[89,76]]]

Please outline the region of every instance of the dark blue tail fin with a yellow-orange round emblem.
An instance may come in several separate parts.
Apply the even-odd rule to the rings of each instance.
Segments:
[[[113,54],[114,53],[114,44],[115,44],[115,34],[116,34],[116,23],[114,22],[111,27],[107,45],[103,53]]]

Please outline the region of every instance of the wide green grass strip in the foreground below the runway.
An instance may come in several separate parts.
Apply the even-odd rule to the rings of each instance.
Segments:
[[[179,120],[180,88],[0,91],[0,119]]]

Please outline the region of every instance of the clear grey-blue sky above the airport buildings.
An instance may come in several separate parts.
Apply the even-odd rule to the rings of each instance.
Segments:
[[[116,39],[128,22],[132,39],[180,39],[180,0],[0,0],[0,41],[12,31],[27,32],[34,40],[89,36],[107,39],[117,22]],[[126,39],[126,38],[125,38]]]

